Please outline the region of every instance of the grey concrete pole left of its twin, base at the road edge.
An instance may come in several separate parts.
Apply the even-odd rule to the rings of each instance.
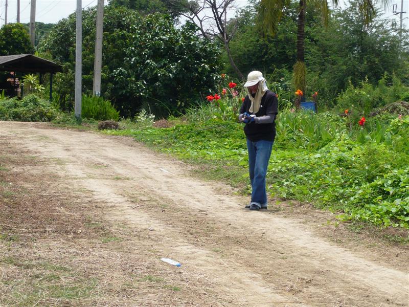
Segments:
[[[74,113],[77,119],[81,119],[82,92],[82,4],[77,0],[77,30],[75,42],[75,108]]]

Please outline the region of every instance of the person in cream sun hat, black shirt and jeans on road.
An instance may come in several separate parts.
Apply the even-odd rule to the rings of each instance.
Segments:
[[[276,137],[277,95],[267,88],[266,80],[259,71],[248,74],[247,96],[240,108],[239,121],[244,122],[247,139],[248,171],[252,184],[252,200],[246,208],[267,209],[265,177],[271,148]]]

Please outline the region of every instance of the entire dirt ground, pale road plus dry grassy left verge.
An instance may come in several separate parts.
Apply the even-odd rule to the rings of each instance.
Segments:
[[[1,306],[409,306],[407,231],[245,210],[130,138],[0,122],[0,192]]]

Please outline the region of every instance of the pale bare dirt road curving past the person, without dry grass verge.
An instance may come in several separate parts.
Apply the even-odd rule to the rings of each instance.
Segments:
[[[101,256],[117,281],[129,270],[148,268],[150,276],[177,283],[171,292],[132,292],[132,285],[122,285],[128,294],[116,305],[409,305],[407,252],[359,242],[343,247],[342,237],[337,244],[322,230],[329,213],[300,216],[291,214],[297,207],[283,211],[274,204],[268,211],[247,211],[248,199],[228,186],[198,180],[183,163],[129,138],[16,122],[0,122],[0,136],[2,147],[47,162],[24,171],[51,198],[70,192],[77,206],[98,210],[112,231],[126,235],[117,250]],[[75,257],[87,261],[86,255]],[[99,274],[105,265],[99,264]],[[109,299],[99,304],[113,305]]]

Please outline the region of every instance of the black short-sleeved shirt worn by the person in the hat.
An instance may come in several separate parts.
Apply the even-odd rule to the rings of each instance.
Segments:
[[[243,104],[240,108],[240,114],[247,112],[251,107],[252,101],[248,96],[244,98]],[[276,93],[267,90],[264,96],[261,98],[259,112],[256,113],[256,117],[265,116],[267,114],[278,113],[278,99]],[[250,113],[251,114],[251,113]],[[261,140],[274,141],[276,138],[276,123],[273,121],[269,124],[256,124],[248,123],[244,126],[244,133],[250,141],[257,142]]]

